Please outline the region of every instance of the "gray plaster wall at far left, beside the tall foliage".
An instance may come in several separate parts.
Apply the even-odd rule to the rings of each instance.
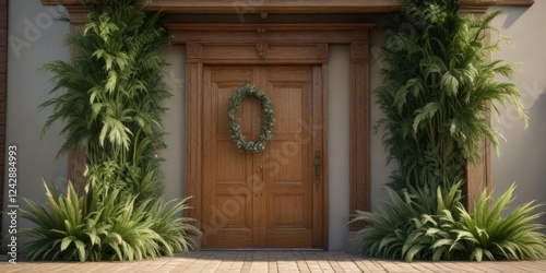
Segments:
[[[67,158],[57,158],[63,143],[60,124],[51,127],[39,139],[40,130],[51,109],[39,110],[38,105],[49,96],[52,74],[37,69],[52,60],[68,60],[69,48],[63,46],[69,24],[55,21],[63,12],[60,7],[44,7],[38,0],[8,1],[8,104],[5,144],[16,145],[17,185],[16,204],[23,198],[45,200],[41,179],[67,185]],[[8,154],[8,153],[7,153]],[[5,158],[8,162],[8,158]],[[3,210],[8,199],[8,165],[4,176]],[[2,215],[2,235],[9,227],[8,215]],[[28,226],[21,217],[17,228]]]

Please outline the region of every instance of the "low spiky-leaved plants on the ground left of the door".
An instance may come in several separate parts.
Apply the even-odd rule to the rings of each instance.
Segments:
[[[33,260],[99,261],[173,256],[188,251],[192,219],[179,217],[187,200],[174,203],[135,198],[119,190],[79,197],[71,183],[67,195],[44,182],[47,204],[25,200],[22,217],[37,225],[21,230],[22,253]],[[174,204],[173,204],[174,203]]]

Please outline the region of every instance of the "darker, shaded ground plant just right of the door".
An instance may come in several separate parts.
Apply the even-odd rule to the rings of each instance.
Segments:
[[[391,202],[383,202],[378,213],[357,211],[353,219],[366,221],[369,224],[358,232],[359,252],[370,257],[406,261],[413,261],[415,258],[434,259],[431,247],[437,238],[444,236],[443,230],[434,230],[434,226],[444,224],[437,215],[440,212],[453,215],[458,211],[461,185],[462,182],[454,183],[446,192],[440,188],[434,190],[408,187],[402,193],[387,186]]]

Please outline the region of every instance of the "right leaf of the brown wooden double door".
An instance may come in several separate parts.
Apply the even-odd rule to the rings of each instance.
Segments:
[[[275,138],[266,151],[263,174],[265,245],[278,248],[312,248],[311,141],[300,130],[310,123],[312,72],[310,67],[268,68],[268,91],[275,107]],[[307,141],[306,141],[307,140]]]

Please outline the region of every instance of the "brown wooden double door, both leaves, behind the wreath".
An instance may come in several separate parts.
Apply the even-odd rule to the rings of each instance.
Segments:
[[[323,247],[321,82],[320,66],[205,67],[204,248]],[[247,83],[274,106],[273,138],[259,153],[239,151],[229,136],[228,103]],[[258,100],[247,97],[237,115],[244,135],[258,139]]]

